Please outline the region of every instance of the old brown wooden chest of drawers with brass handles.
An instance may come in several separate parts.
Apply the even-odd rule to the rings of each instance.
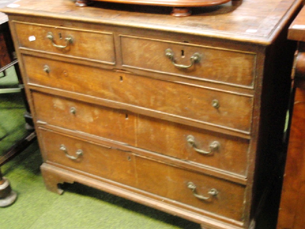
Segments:
[[[46,187],[79,182],[192,220],[254,228],[285,144],[301,1],[164,7],[20,1],[2,9]],[[155,12],[156,11],[156,12]]]

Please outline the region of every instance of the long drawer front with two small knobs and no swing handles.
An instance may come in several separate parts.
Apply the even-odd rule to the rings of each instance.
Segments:
[[[97,96],[168,115],[250,131],[253,98],[121,72],[23,56],[30,83]],[[49,66],[49,73],[43,71]],[[212,106],[213,101],[219,107]]]

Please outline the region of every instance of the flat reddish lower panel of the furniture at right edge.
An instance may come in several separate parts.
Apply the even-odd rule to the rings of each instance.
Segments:
[[[296,88],[278,229],[302,229],[305,225],[305,91]]]

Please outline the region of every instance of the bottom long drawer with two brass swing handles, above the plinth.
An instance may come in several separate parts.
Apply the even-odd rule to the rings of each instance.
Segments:
[[[206,212],[209,211],[243,220],[245,188],[242,185],[44,128],[39,128],[38,136],[46,163],[58,163],[126,184],[158,195],[160,199],[169,199],[176,205],[195,207],[205,214],[210,214]],[[81,155],[77,155],[80,152]]]

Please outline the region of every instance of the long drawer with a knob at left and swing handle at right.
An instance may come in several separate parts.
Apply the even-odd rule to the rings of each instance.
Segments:
[[[60,96],[32,96],[38,121],[246,176],[249,140]]]

